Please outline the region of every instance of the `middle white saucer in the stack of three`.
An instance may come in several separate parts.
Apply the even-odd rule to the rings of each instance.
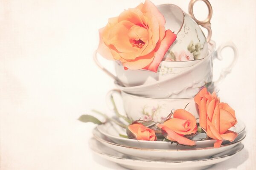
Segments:
[[[245,138],[246,132],[240,133],[239,136],[229,144],[221,145],[219,148],[215,147],[203,147],[203,148],[193,148],[187,147],[187,149],[180,150],[177,147],[172,149],[145,149],[141,147],[128,147],[120,144],[116,144],[108,140],[105,136],[102,136],[101,133],[95,128],[93,130],[94,138],[104,144],[105,146],[116,150],[120,153],[124,153],[129,156],[136,156],[137,159],[148,159],[148,160],[157,160],[157,161],[180,161],[180,160],[195,160],[208,158],[210,156],[216,155],[218,153],[225,152],[230,150]],[[154,142],[152,142],[154,143]]]

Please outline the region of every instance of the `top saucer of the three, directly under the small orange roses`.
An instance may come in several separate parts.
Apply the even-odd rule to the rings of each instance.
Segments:
[[[233,142],[241,142],[246,136],[244,131],[245,125],[239,120],[236,127],[230,128],[230,130],[239,134],[239,136]],[[96,131],[97,130],[97,131]],[[105,124],[99,125],[96,127],[96,130],[93,130],[93,134],[98,136],[98,138],[102,138],[108,140],[109,142],[119,144],[122,146],[128,147],[137,147],[137,148],[147,148],[147,149],[179,149],[179,150],[188,150],[188,149],[196,149],[196,148],[204,148],[204,147],[213,147],[213,144],[216,142],[215,139],[208,139],[208,140],[201,140],[200,138],[204,139],[206,136],[204,133],[199,133],[200,135],[193,137],[192,139],[195,140],[195,146],[183,146],[177,145],[172,142],[164,142],[164,141],[143,141],[143,140],[134,140],[128,139],[124,137],[120,137],[121,135],[126,135],[125,129],[119,127],[116,124],[111,124],[107,122]],[[99,133],[101,134],[99,134]],[[102,137],[105,136],[105,137]],[[230,144],[227,140],[222,142],[222,145]]]

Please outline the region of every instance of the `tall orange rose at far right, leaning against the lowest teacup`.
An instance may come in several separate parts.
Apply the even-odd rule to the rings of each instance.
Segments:
[[[223,139],[230,142],[236,139],[237,133],[228,130],[236,125],[236,115],[227,103],[220,102],[217,95],[210,94],[207,88],[203,88],[194,99],[198,104],[200,126],[210,138],[217,140],[214,147],[220,147]]]

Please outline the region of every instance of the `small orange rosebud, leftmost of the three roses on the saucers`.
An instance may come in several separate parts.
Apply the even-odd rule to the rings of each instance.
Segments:
[[[144,141],[156,141],[157,136],[155,131],[145,127],[141,123],[133,123],[128,126],[127,135],[131,139],[144,140]]]

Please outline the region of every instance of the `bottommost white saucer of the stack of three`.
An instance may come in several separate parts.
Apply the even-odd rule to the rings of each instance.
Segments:
[[[230,159],[244,148],[243,144],[238,144],[236,147],[212,156],[209,159],[194,161],[150,161],[128,157],[125,154],[104,146],[96,139],[90,139],[89,146],[98,156],[132,170],[202,170],[213,164]]]

